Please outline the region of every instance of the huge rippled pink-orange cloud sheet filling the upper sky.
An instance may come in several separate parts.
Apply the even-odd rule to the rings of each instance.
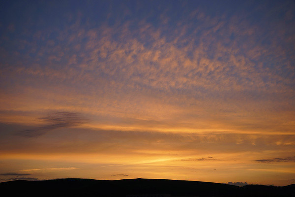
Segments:
[[[51,107],[48,104],[57,108],[60,106],[70,108],[74,106],[72,103],[75,103],[75,106],[81,110],[90,109],[90,113],[108,113],[113,116],[128,114],[143,118],[155,117],[154,119],[159,117],[158,120],[172,115],[183,117],[180,113],[183,111],[183,114],[199,116],[199,125],[202,122],[200,119],[206,121],[207,117],[214,121],[227,118],[234,120],[220,120],[220,123],[227,123],[225,127],[220,126],[220,128],[230,129],[229,126],[243,122],[243,128],[246,127],[250,131],[252,128],[249,128],[247,124],[260,120],[254,119],[251,111],[257,110],[255,114],[262,113],[262,117],[265,118],[265,112],[260,109],[271,108],[268,107],[269,104],[265,99],[272,98],[271,102],[274,104],[272,106],[276,108],[288,105],[287,100],[281,102],[284,99],[278,99],[278,97],[284,97],[282,94],[269,97],[261,91],[275,86],[272,90],[288,92],[287,87],[282,88],[282,83],[279,83],[284,81],[284,78],[278,78],[277,73],[271,73],[271,70],[268,71],[252,61],[258,51],[267,51],[268,47],[265,49],[260,45],[257,47],[249,45],[257,43],[252,40],[255,36],[245,35],[247,40],[250,39],[247,41],[248,44],[243,44],[243,50],[247,53],[240,53],[239,45],[234,44],[235,42],[230,39],[230,34],[236,34],[238,44],[238,40],[244,40],[243,35],[247,34],[246,30],[260,31],[253,31],[250,23],[241,24],[238,18],[233,21],[234,25],[231,25],[232,23],[226,23],[227,20],[219,21],[210,15],[206,16],[206,13],[196,14],[203,15],[204,17],[199,16],[199,20],[206,19],[206,22],[198,24],[197,27],[193,26],[194,23],[186,25],[179,23],[183,25],[178,28],[174,26],[170,27],[171,29],[168,28],[169,34],[166,35],[165,30],[155,28],[148,22],[128,25],[132,24],[132,21],[122,22],[122,25],[116,28],[105,25],[90,30],[81,23],[77,23],[80,26],[76,26],[74,31],[64,29],[60,32],[57,30],[57,33],[41,33],[42,35],[60,34],[64,39],[60,38],[62,44],[59,44],[59,39],[54,39],[56,43],[54,47],[48,47],[45,43],[28,44],[40,46],[40,50],[36,49],[40,51],[37,58],[30,60],[31,62],[26,66],[12,67],[3,71],[3,75],[7,76],[7,80],[3,78],[4,82],[7,81],[4,86],[22,94],[22,99],[5,94],[7,101],[2,102],[2,105],[9,106],[9,103],[13,102],[16,103],[15,108],[18,108],[18,105],[26,103],[29,106],[28,110],[31,110],[34,105],[44,106],[43,103],[47,103],[45,105],[48,108]],[[190,25],[192,27],[185,28]],[[139,29],[134,30],[131,28],[133,26],[138,26]],[[214,30],[215,27],[218,29],[217,32]],[[202,29],[208,32],[201,31]],[[181,33],[178,32],[180,30],[185,30],[184,34],[188,37],[180,36]],[[196,33],[199,34],[198,38]],[[114,39],[116,34],[120,34],[120,37]],[[158,37],[155,36],[157,34]],[[219,34],[225,39],[213,39]],[[153,36],[153,39],[145,40],[138,35],[147,38]],[[82,40],[85,40],[85,44],[82,44]],[[48,42],[53,41],[48,40]],[[195,42],[200,43],[193,44]],[[68,48],[76,48],[76,45],[81,45],[77,51],[68,50]],[[267,65],[267,62],[265,64]],[[59,67],[53,65],[59,65]],[[18,87],[11,88],[12,84],[9,82],[14,76],[16,79],[13,84]],[[24,87],[24,84],[28,86]],[[38,87],[35,84],[38,84]],[[249,94],[249,91],[253,94]],[[37,96],[35,92],[38,92]],[[129,95],[135,95],[135,97],[129,97]],[[286,95],[285,99],[287,98],[293,97]],[[275,105],[275,100],[280,100],[280,105]],[[53,101],[56,102],[52,103]],[[259,102],[262,101],[267,104],[260,104]],[[211,108],[211,106],[214,107]],[[159,107],[164,109],[159,110]],[[174,110],[176,112],[171,113]],[[232,112],[229,113],[229,111]],[[235,111],[240,115],[235,114]],[[217,118],[211,118],[212,114],[215,114]],[[242,117],[245,119],[241,120]],[[192,117],[193,120],[195,118]],[[283,125],[272,121],[271,117],[269,120],[271,124],[277,124],[280,127]],[[196,121],[180,118],[172,122],[193,124]],[[266,131],[266,126],[263,124],[266,124],[266,121],[253,125],[255,129],[263,126]],[[205,125],[208,128],[214,124]],[[192,125],[192,127],[195,126]],[[270,128],[276,127],[270,126]],[[282,129],[279,128],[279,131]],[[29,136],[34,134],[33,131],[28,132],[23,134]],[[40,133],[42,132],[38,132]]]

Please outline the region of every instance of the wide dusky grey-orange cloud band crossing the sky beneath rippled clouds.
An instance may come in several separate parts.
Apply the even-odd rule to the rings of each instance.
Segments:
[[[92,119],[92,117],[91,117]],[[3,129],[2,129],[3,128]],[[11,129],[10,129],[11,128]],[[16,131],[16,127],[1,127],[2,130]],[[79,135],[79,139],[77,136]],[[57,137],[61,136],[61,137]],[[0,137],[1,138],[1,137]],[[189,151],[190,155],[179,155],[176,159],[179,162],[190,160],[201,163],[202,161],[214,163],[224,160],[216,153],[240,153],[260,150],[283,151],[292,155],[291,145],[295,144],[294,135],[262,135],[262,134],[236,134],[236,133],[175,133],[175,132],[151,132],[151,131],[115,131],[85,128],[60,129],[59,132],[47,133],[46,138],[39,138],[37,141],[28,141],[27,138],[20,137],[15,143],[14,138],[9,135],[0,139],[0,150],[2,153],[10,152],[18,154],[26,152],[30,154],[60,154],[75,152],[83,153],[104,153],[104,154],[151,154],[165,155],[167,151]],[[50,140],[50,143],[48,143]],[[5,143],[3,143],[5,142]],[[280,145],[276,144],[280,142]],[[42,147],[40,147],[42,143]],[[57,146],[56,144],[59,144]],[[269,145],[275,145],[272,148]],[[110,148],[112,147],[112,148]],[[140,147],[134,149],[134,147]],[[203,147],[207,147],[205,150]],[[203,154],[195,154],[194,150],[202,149]],[[277,154],[276,154],[277,155]],[[212,156],[214,158],[209,158]],[[276,156],[272,156],[275,158]],[[180,160],[183,161],[180,161]],[[211,159],[211,160],[209,160]],[[212,160],[216,159],[216,160]],[[245,159],[245,158],[244,158]],[[247,158],[248,162],[257,159],[265,159],[263,156],[252,156]],[[205,161],[204,161],[205,160]],[[206,161],[207,160],[207,161]],[[74,166],[74,165],[72,165]]]

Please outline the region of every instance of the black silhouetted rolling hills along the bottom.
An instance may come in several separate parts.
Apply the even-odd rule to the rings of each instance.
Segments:
[[[0,196],[11,197],[295,197],[295,184],[238,187],[165,179],[56,179],[3,182],[0,183],[0,191]]]

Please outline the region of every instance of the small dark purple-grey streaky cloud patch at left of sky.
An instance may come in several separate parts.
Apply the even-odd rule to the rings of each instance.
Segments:
[[[17,134],[25,137],[36,137],[45,134],[47,131],[59,128],[77,127],[87,122],[79,113],[67,111],[55,112],[50,116],[39,119],[47,124],[30,130],[18,131]]]

